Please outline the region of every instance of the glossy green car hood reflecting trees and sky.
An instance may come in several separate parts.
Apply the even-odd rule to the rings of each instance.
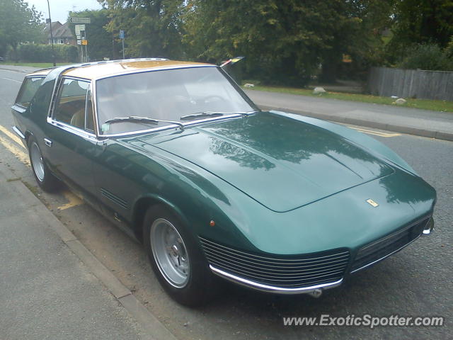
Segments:
[[[329,130],[273,113],[137,139],[142,147],[158,147],[210,171],[276,212],[394,171]]]

